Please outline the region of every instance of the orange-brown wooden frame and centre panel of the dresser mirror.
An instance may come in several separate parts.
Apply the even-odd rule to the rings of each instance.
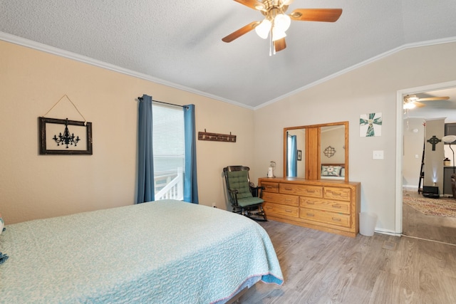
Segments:
[[[284,127],[284,177],[286,176],[286,141],[287,141],[287,135],[286,133],[289,130],[298,130],[298,129],[306,129],[306,153],[304,156],[306,157],[305,162],[306,162],[306,179],[321,179],[321,159],[320,159],[320,153],[321,153],[321,146],[320,146],[320,135],[321,135],[321,127],[331,127],[331,126],[336,126],[336,125],[343,125],[345,127],[345,182],[349,181],[349,168],[348,168],[348,121],[343,121],[343,122],[329,122],[329,123],[324,123],[320,125],[301,125],[301,126],[296,126],[296,127]],[[316,130],[316,132],[312,132],[316,137],[318,138],[311,138],[308,139],[308,133],[307,129],[313,129]],[[311,145],[314,145],[314,147],[309,147],[309,142]],[[318,150],[318,153],[312,153],[312,150]],[[318,154],[316,157],[316,163],[311,162],[311,159],[308,159],[309,155],[311,154]],[[311,175],[316,174],[316,178],[310,177],[309,178],[309,169],[307,167],[307,164],[315,164],[315,167],[318,168],[316,169],[316,172]],[[326,180],[326,179],[325,179]],[[336,180],[336,179],[328,179],[328,180]]]

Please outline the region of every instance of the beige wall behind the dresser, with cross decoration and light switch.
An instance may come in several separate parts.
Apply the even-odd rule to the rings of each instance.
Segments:
[[[282,172],[284,127],[348,120],[350,179],[361,182],[361,211],[378,214],[379,231],[400,231],[395,219],[398,90],[456,80],[456,43],[410,48],[255,110],[255,172],[271,159]],[[331,60],[331,58],[328,58]],[[311,73],[304,71],[303,73]],[[380,137],[360,137],[361,114],[382,112]],[[373,160],[383,150],[383,160]],[[259,177],[259,176],[257,176]]]

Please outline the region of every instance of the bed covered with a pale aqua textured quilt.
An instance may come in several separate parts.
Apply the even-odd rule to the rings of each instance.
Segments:
[[[225,303],[283,283],[251,219],[175,200],[6,225],[0,303]]]

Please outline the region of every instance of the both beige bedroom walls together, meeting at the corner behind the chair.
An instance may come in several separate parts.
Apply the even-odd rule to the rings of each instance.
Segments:
[[[362,184],[361,210],[378,214],[379,231],[398,231],[396,93],[456,80],[455,54],[456,43],[410,48],[252,111],[0,41],[0,212],[12,224],[133,204],[135,98],[147,93],[194,103],[197,131],[237,135],[236,144],[197,142],[199,199],[209,206],[224,207],[221,172],[228,164],[249,165],[256,180],[274,160],[281,175],[284,127],[348,120],[350,179]],[[64,94],[93,122],[92,156],[38,155],[37,117]],[[63,107],[50,115],[79,119]],[[359,136],[359,116],[370,112],[383,113],[381,137]],[[373,160],[373,150],[383,150],[385,159]]]

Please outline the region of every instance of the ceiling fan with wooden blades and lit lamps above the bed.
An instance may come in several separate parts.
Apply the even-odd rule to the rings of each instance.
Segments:
[[[258,36],[266,39],[268,36],[271,41],[271,49],[274,53],[286,48],[286,30],[289,28],[291,20],[294,21],[324,21],[335,22],[342,14],[342,9],[295,9],[291,14],[286,15],[286,9],[294,0],[234,0],[244,4],[251,9],[260,11],[265,17],[263,21],[253,21],[247,26],[239,28],[222,38],[224,42],[231,42],[245,33],[255,29]],[[270,33],[270,35],[269,35]],[[271,55],[271,53],[269,53]]]

